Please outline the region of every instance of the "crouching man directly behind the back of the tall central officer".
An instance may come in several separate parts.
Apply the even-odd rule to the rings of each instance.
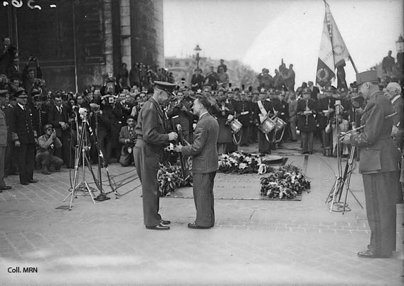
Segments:
[[[121,149],[121,157],[119,163],[122,167],[127,167],[133,162],[134,144],[136,143],[137,134],[134,133],[134,117],[129,116],[127,126],[123,126],[119,132],[119,143],[123,144]]]

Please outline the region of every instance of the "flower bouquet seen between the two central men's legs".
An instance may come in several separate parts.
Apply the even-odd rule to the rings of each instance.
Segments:
[[[157,172],[157,181],[159,182],[161,196],[169,196],[177,188],[191,185],[192,175],[189,175],[184,180],[179,165],[171,165],[170,163],[160,164],[159,172]]]

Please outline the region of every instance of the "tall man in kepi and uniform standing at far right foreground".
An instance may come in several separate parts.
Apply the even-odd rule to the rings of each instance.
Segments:
[[[390,137],[393,128],[393,105],[378,88],[376,70],[356,75],[358,90],[368,99],[361,118],[365,125],[360,134],[341,138],[361,148],[359,172],[363,177],[366,214],[371,229],[371,243],[361,258],[389,257],[395,251],[395,192],[400,172],[400,153]]]

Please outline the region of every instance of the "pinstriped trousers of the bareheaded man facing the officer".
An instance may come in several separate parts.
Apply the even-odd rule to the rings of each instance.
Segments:
[[[193,200],[196,208],[197,226],[214,226],[215,209],[213,185],[216,172],[206,174],[193,173]]]

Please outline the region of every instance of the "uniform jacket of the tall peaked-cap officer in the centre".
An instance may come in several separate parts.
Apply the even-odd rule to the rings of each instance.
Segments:
[[[166,134],[166,120],[159,103],[151,97],[140,109],[137,118],[137,146],[139,141],[146,142],[149,150],[161,154],[165,144],[169,143],[169,135]]]

